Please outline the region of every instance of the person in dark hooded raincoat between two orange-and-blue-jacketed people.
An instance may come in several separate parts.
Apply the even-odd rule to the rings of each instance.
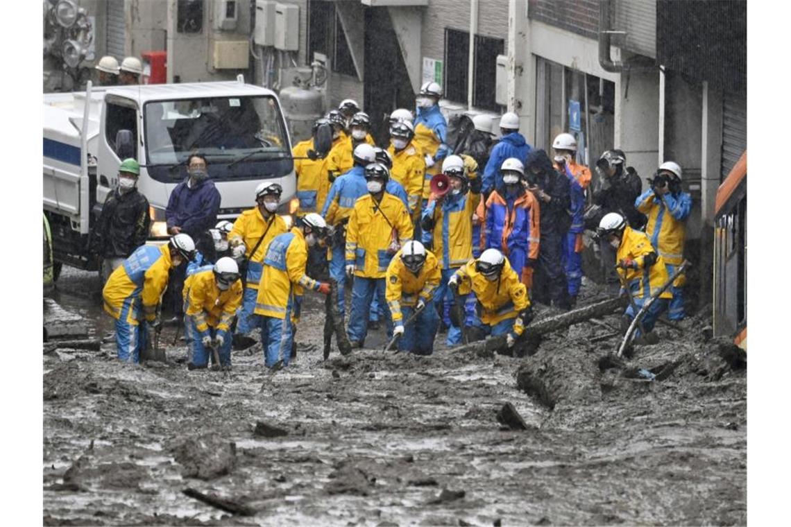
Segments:
[[[526,186],[539,203],[539,260],[533,277],[536,302],[570,309],[563,270],[563,240],[571,227],[569,179],[556,171],[543,150],[528,154],[524,172]]]

